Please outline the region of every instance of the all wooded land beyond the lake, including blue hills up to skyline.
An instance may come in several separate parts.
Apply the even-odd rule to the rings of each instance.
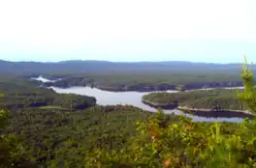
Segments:
[[[256,70],[255,66],[253,70]],[[148,92],[242,86],[239,64],[113,63],[107,61],[38,63],[0,60],[1,73],[26,79],[39,75],[48,79],[62,78],[62,80],[54,83],[45,83],[45,86],[62,88],[89,86],[113,92]],[[38,82],[38,84],[43,83]]]

